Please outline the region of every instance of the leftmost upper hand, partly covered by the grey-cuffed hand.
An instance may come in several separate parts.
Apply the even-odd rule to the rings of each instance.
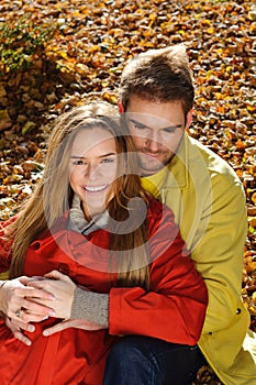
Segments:
[[[45,317],[54,316],[51,307],[54,296],[49,292],[26,286],[30,279],[24,276],[10,279],[0,287],[0,310],[21,323],[40,322]],[[42,300],[46,300],[47,305],[41,305]]]

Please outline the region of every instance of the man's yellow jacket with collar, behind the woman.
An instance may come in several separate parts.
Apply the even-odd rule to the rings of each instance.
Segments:
[[[242,297],[245,195],[220,156],[185,134],[178,153],[145,189],[169,206],[205,280],[209,306],[199,346],[226,385],[256,384],[256,333]]]

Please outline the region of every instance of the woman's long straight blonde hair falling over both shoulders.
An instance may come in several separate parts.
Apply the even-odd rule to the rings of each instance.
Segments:
[[[23,205],[18,220],[10,226],[13,237],[10,277],[23,274],[24,260],[31,242],[40,233],[51,229],[69,208],[74,193],[69,184],[70,151],[77,133],[81,130],[102,128],[115,140],[118,162],[116,178],[112,186],[114,197],[108,204],[114,223],[125,223],[130,217],[130,201],[147,204],[141,178],[138,161],[132,140],[116,109],[105,102],[91,102],[76,107],[60,116],[54,125],[45,158],[44,174],[30,199]],[[140,205],[135,206],[136,210]],[[136,212],[137,215],[137,212]],[[133,227],[134,228],[134,227]],[[110,250],[116,256],[118,283],[122,286],[148,288],[148,250],[145,220],[135,230],[111,230]]]

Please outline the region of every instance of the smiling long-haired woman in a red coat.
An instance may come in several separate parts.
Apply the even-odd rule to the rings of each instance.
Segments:
[[[1,226],[2,385],[99,385],[124,334],[199,339],[204,283],[122,130],[105,103],[64,114],[37,189]]]

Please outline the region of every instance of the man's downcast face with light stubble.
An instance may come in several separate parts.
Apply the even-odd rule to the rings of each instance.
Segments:
[[[176,154],[186,129],[181,101],[159,102],[132,96],[125,119],[138,151],[142,175],[163,168]]]

